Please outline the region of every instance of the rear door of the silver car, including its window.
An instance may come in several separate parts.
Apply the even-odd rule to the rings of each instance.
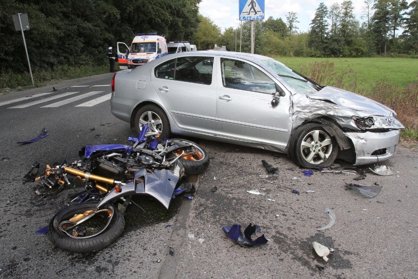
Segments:
[[[213,56],[183,56],[154,67],[152,85],[182,130],[212,134],[216,84]]]

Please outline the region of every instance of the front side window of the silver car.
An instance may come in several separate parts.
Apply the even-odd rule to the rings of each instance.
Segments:
[[[244,61],[221,58],[221,74],[224,87],[268,94],[276,93],[275,82],[260,69]]]

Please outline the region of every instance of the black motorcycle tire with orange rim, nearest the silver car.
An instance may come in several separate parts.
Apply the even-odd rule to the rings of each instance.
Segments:
[[[183,141],[187,142],[190,145],[187,147],[176,149],[175,154],[179,155],[182,150],[186,153],[192,153],[197,151],[196,154],[191,154],[180,158],[180,162],[184,167],[184,173],[188,175],[201,174],[209,167],[209,156],[205,149],[203,149],[199,144],[182,139],[172,139],[170,141]]]

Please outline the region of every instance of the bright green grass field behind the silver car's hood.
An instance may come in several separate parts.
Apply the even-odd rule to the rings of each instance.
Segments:
[[[300,72],[301,65],[328,60],[334,63],[336,71],[352,70],[351,79],[356,79],[360,87],[371,88],[378,81],[386,81],[404,87],[418,82],[418,59],[413,58],[313,58],[313,57],[273,57]],[[326,84],[322,84],[326,85]]]

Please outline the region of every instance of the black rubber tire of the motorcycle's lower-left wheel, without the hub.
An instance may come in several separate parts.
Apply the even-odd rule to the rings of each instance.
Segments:
[[[59,228],[59,225],[63,221],[69,221],[70,218],[82,214],[88,210],[97,210],[97,202],[84,202],[73,204],[68,207],[61,209],[51,220],[48,226],[48,236],[55,247],[62,250],[75,252],[75,253],[89,253],[94,251],[100,251],[114,243],[119,236],[122,234],[125,227],[125,219],[123,214],[118,210],[117,206],[113,204],[107,204],[101,209],[107,209],[113,212],[112,216],[109,217],[104,225],[103,231],[100,231],[94,236],[69,236],[66,232]],[[97,218],[96,218],[97,217]],[[104,219],[101,215],[96,214],[92,218],[88,219],[84,223],[80,223],[75,226],[75,229],[86,229],[85,226],[96,223],[104,223],[105,220],[94,220]],[[89,222],[89,223],[87,223]],[[62,225],[62,224],[61,224]],[[103,225],[102,225],[103,226]],[[90,230],[88,227],[87,230]],[[77,234],[77,233],[75,233]]]

